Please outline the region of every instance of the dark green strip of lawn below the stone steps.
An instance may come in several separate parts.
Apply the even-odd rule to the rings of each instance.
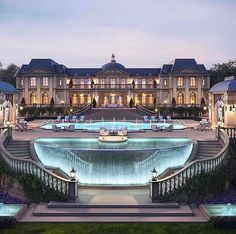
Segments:
[[[144,224],[94,224],[94,223],[18,223],[14,226],[1,229],[1,234],[152,234],[152,233],[236,233],[234,229],[217,229],[211,224],[165,224],[165,223],[144,223]]]

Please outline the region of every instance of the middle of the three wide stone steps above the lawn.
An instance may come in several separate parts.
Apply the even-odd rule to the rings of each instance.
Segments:
[[[178,217],[194,216],[188,205],[180,205],[179,208],[48,208],[46,204],[39,204],[33,211],[33,216],[142,216],[142,217]]]

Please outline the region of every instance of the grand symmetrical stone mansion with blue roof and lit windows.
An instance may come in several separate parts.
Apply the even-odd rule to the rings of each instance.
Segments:
[[[96,100],[98,107],[199,105],[208,103],[210,77],[195,59],[175,59],[161,68],[126,68],[111,61],[101,68],[68,68],[51,59],[32,59],[16,77],[25,105],[77,106]]]

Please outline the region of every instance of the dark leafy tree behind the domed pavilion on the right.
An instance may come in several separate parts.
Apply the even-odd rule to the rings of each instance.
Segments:
[[[226,63],[217,63],[209,70],[210,73],[210,85],[223,81],[226,76],[236,75],[236,60],[229,60]]]

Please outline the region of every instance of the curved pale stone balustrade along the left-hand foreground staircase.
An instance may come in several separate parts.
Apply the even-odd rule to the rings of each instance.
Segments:
[[[31,159],[14,157],[4,147],[4,144],[11,138],[11,128],[3,130],[0,135],[0,155],[13,171],[35,175],[46,186],[64,194],[69,200],[76,199],[77,181],[61,178]]]

